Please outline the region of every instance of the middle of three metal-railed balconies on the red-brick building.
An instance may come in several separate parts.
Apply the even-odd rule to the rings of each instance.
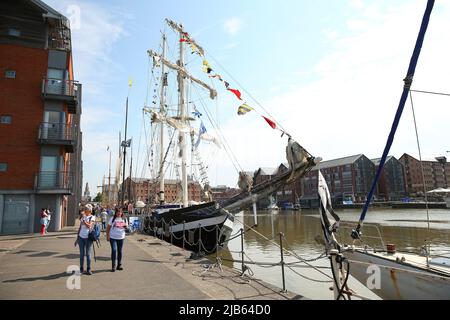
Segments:
[[[66,152],[73,153],[77,140],[76,127],[66,123],[43,122],[39,126],[38,142],[64,146]]]

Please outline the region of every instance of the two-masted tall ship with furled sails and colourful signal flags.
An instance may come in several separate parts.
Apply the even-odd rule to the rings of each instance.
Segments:
[[[270,194],[274,193],[280,187],[286,183],[292,183],[296,179],[305,175],[312,167],[314,167],[319,158],[314,158],[303,147],[295,142],[289,134],[283,131],[283,135],[289,137],[288,146],[286,148],[287,158],[290,164],[290,170],[285,174],[272,179],[268,182],[252,185],[252,178],[240,172],[239,186],[242,192],[235,197],[228,199],[222,203],[218,203],[212,199],[210,192],[209,182],[205,179],[205,168],[201,165],[201,159],[198,155],[198,145],[201,139],[207,139],[216,144],[218,139],[208,136],[206,128],[201,122],[200,129],[196,130],[190,126],[190,123],[195,118],[191,118],[188,115],[189,107],[193,108],[192,114],[200,119],[201,113],[192,103],[194,99],[189,99],[188,93],[192,93],[194,90],[188,90],[189,85],[199,86],[200,89],[206,90],[209,93],[209,98],[214,100],[218,94],[215,89],[206,84],[204,81],[195,78],[188,70],[187,64],[185,64],[185,46],[189,45],[192,55],[196,57],[198,55],[203,60],[203,70],[208,74],[208,77],[212,80],[218,79],[221,81],[227,91],[236,95],[239,100],[241,99],[241,93],[237,89],[230,88],[228,82],[226,82],[220,75],[213,74],[212,68],[209,63],[204,59],[203,48],[192,37],[185,32],[183,26],[175,23],[169,19],[166,19],[169,27],[178,35],[179,42],[179,57],[176,63],[169,61],[165,55],[165,40],[166,36],[163,35],[162,54],[156,53],[153,50],[149,50],[148,54],[152,58],[154,66],[161,67],[161,90],[159,93],[160,106],[159,108],[144,108],[144,111],[151,115],[153,125],[160,126],[160,163],[159,163],[159,192],[157,202],[159,203],[152,208],[152,211],[144,220],[144,231],[147,233],[161,236],[167,241],[174,243],[180,247],[196,251],[211,253],[220,248],[226,247],[228,239],[230,238],[233,230],[234,213],[242,211],[253,205]],[[188,64],[192,66],[191,63]],[[168,73],[165,71],[168,68],[170,71],[176,73],[178,101],[176,103],[177,110],[175,115],[169,114],[169,107],[165,101],[166,88],[169,85]],[[155,90],[156,92],[156,90]],[[156,97],[156,95],[154,96]],[[156,103],[154,103],[156,104]],[[243,104],[239,107],[238,114],[245,114],[254,110],[247,104]],[[207,108],[204,109],[205,113],[208,113]],[[255,111],[256,112],[256,111]],[[208,115],[208,118],[209,115]],[[264,120],[273,128],[276,128],[276,123],[269,118],[264,117]],[[197,119],[197,120],[198,120]],[[213,125],[214,123],[212,123]],[[172,130],[172,139],[167,146],[167,150],[164,150],[164,127],[168,127]],[[178,152],[174,158],[181,159],[181,165],[176,166],[176,170],[181,167],[181,202],[168,204],[165,201],[164,190],[164,175],[167,169],[167,153],[170,148],[173,149],[173,137],[175,132],[178,132]],[[190,134],[191,148],[187,147],[187,137]],[[194,142],[194,136],[197,135],[197,142]],[[188,199],[188,152],[191,153],[191,158],[196,158],[200,163],[200,175],[203,179],[201,181],[203,203],[197,203],[190,205]],[[192,156],[193,155],[193,156]],[[190,166],[192,168],[192,165]],[[235,166],[236,167],[236,166]],[[178,173],[178,171],[176,171]],[[255,223],[256,224],[256,223]]]

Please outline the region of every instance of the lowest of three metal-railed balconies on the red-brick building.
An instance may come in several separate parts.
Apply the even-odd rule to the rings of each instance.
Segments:
[[[40,194],[72,194],[73,174],[64,171],[41,171],[34,179],[34,189]]]

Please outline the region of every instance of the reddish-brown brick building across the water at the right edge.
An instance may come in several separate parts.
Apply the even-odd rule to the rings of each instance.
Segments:
[[[399,161],[405,168],[406,186],[410,196],[423,195],[420,161],[405,153]],[[422,160],[426,191],[450,187],[450,163],[446,157]]]

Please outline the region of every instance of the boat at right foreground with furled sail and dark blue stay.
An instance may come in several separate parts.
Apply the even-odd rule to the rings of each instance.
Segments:
[[[319,171],[318,191],[321,203],[321,223],[327,254],[331,258],[336,299],[343,299],[345,295],[348,297],[352,295],[347,286],[347,279],[350,274],[383,299],[450,299],[449,258],[432,258],[429,250],[425,250],[422,255],[401,253],[395,250],[393,244],[388,244],[382,250],[376,250],[364,243],[364,237],[361,233],[365,214],[392,145],[406,99],[410,93],[414,71],[433,5],[434,0],[428,0],[419,37],[404,80],[405,86],[394,123],[358,226],[351,234],[352,245],[341,244],[336,240],[335,233],[338,231],[340,219],[331,207],[328,187]],[[356,241],[360,242],[361,245],[356,245]]]

